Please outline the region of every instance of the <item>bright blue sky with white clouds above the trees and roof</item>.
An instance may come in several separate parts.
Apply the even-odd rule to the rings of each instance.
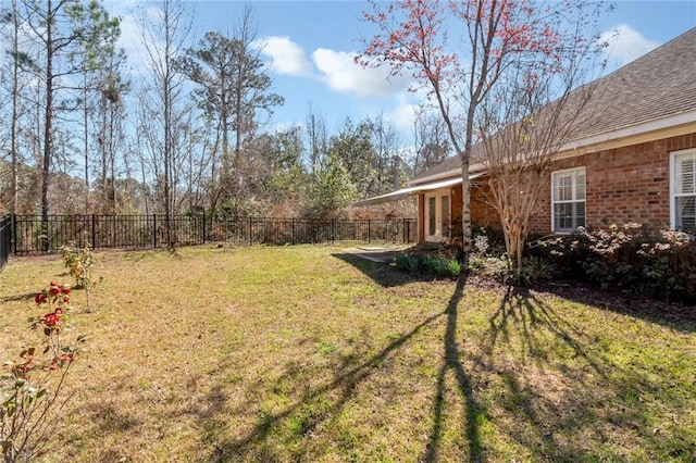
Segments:
[[[127,5],[139,2],[107,0],[124,16],[124,43],[133,47],[135,27]],[[240,1],[187,1],[195,7],[192,36],[209,30],[229,30],[244,8]],[[418,95],[408,92],[408,78],[385,79],[386,73],[364,70],[352,62],[369,37],[370,25],[360,21],[368,3],[361,1],[252,1],[258,37],[265,43],[261,57],[269,65],[274,90],[285,98],[270,124],[275,127],[303,124],[310,107],[327,122],[330,132],[350,116],[383,115],[408,133]],[[601,29],[618,30],[610,48],[609,67],[648,52],[696,26],[696,1],[618,1]],[[135,63],[133,63],[135,64]],[[688,63],[684,63],[688,65]],[[693,65],[693,64],[692,64]],[[407,135],[408,137],[408,135]]]

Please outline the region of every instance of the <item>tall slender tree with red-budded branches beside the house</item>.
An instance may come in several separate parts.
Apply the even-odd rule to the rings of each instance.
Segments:
[[[364,17],[378,32],[365,42],[364,65],[387,63],[394,74],[410,72],[426,87],[443,117],[461,165],[462,247],[471,240],[469,166],[482,104],[511,64],[537,57],[558,61],[558,51],[582,38],[566,33],[569,22],[587,22],[597,3],[462,0],[372,2]],[[596,17],[596,16],[595,16]],[[460,30],[453,38],[448,30]]]

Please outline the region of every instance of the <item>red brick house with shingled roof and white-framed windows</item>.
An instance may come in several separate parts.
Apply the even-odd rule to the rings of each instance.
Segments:
[[[696,28],[601,77],[592,123],[556,154],[530,233],[641,223],[696,229]],[[472,222],[499,226],[485,167],[470,166]],[[419,242],[448,235],[461,214],[461,168],[450,158],[405,189],[357,203],[418,198]]]

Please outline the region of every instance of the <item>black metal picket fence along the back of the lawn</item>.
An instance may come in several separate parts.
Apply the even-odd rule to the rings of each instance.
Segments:
[[[244,245],[300,245],[336,242],[414,242],[415,221],[311,220],[201,215],[170,217],[167,236],[163,215],[13,215],[12,246],[15,254],[55,252],[66,242],[92,249],[158,248],[200,245],[209,241]]]

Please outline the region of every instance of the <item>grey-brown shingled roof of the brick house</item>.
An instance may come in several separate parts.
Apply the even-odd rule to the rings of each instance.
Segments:
[[[575,140],[695,110],[696,27],[587,85],[598,91],[588,105],[591,122],[580,127]],[[409,184],[445,174],[459,165],[458,157],[448,158]]]

